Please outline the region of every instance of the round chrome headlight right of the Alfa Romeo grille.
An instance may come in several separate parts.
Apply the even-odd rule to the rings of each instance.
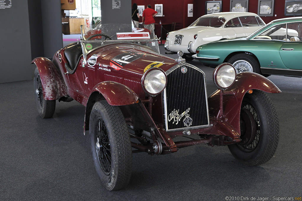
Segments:
[[[236,70],[232,64],[223,63],[218,65],[213,73],[213,80],[220,89],[230,87],[236,79]]]

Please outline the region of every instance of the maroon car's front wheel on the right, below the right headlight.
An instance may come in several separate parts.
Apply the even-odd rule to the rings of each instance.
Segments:
[[[229,145],[233,156],[245,165],[268,162],[278,146],[279,122],[271,99],[253,90],[243,98],[240,111],[241,142]]]

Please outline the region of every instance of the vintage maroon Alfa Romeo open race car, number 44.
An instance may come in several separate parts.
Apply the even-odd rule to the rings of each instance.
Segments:
[[[82,34],[79,44],[60,49],[52,61],[32,63],[42,118],[53,116],[56,100],[86,106],[84,134],[89,130],[94,166],[108,190],[128,184],[137,152],[160,155],[207,144],[227,145],[246,165],[272,158],[279,124],[265,92],[281,91],[270,80],[236,75],[231,64],[220,64],[213,74],[218,90],[207,96],[204,72],[185,63],[182,51],[176,60],[159,54],[154,32],[101,26],[101,34]]]

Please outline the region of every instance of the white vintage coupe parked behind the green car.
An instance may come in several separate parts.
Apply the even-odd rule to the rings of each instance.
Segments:
[[[184,52],[183,58],[192,60],[198,46],[205,43],[248,36],[264,26],[263,20],[255,13],[222,12],[199,17],[189,27],[167,33],[165,49],[176,54]]]

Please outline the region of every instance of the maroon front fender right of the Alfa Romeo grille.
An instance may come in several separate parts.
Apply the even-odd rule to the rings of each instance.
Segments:
[[[261,90],[267,93],[281,93],[281,90],[262,75],[242,72],[235,83],[223,92],[223,121],[231,124],[240,133],[240,108],[244,95],[249,90]],[[209,114],[218,118],[220,110],[220,90],[208,97]]]

